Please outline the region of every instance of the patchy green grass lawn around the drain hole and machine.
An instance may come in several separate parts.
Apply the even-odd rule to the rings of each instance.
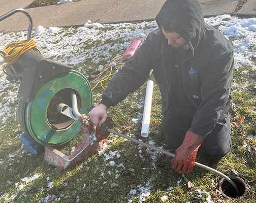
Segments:
[[[246,74],[241,74],[243,72]],[[133,197],[129,193],[130,190],[137,189],[138,192],[140,187],[144,187],[147,182],[150,182],[151,194],[146,202],[161,202],[163,195],[169,197],[166,202],[203,202],[207,195],[199,196],[196,189],[208,191],[211,199],[215,202],[256,202],[255,188],[253,187],[256,184],[255,156],[251,157],[251,153],[248,151],[249,146],[255,146],[256,142],[255,139],[246,139],[248,134],[255,135],[256,91],[251,89],[253,88],[251,80],[255,77],[255,71],[249,67],[235,70],[231,119],[234,121],[236,117],[245,116],[245,120],[239,127],[232,128],[232,152],[214,166],[225,174],[232,174],[232,170],[236,170],[239,176],[248,183],[250,186],[248,195],[243,199],[222,199],[216,188],[220,177],[216,177],[201,168],[195,168],[190,175],[182,177],[171,170],[167,160],[158,160],[155,163],[156,168],[153,169],[152,157],[144,148],[139,153],[140,148],[138,146],[113,135],[107,139],[110,148],[104,153],[107,154],[109,151],[120,153],[119,158],[111,159],[116,163],[114,166],[106,166],[108,161],[104,161],[104,155],[94,155],[81,164],[69,167],[66,171],[58,171],[54,166],[48,165],[42,155],[17,153],[21,146],[17,133],[21,133],[22,130],[18,128],[18,131],[13,131],[13,126],[18,126],[18,123],[16,117],[12,117],[8,120],[8,125],[1,130],[1,137],[4,139],[1,141],[0,159],[4,160],[5,164],[0,165],[2,174],[0,186],[2,197],[0,201],[6,202],[3,196],[9,195],[11,199],[11,196],[16,194],[14,202],[38,202],[46,195],[57,196],[60,198],[58,202],[76,202],[77,199],[80,202],[127,202],[128,199],[138,202],[139,197],[136,195]],[[144,92],[145,85],[117,107],[109,110],[109,115],[115,121],[115,129],[118,130],[122,125],[131,122],[134,112],[138,111],[137,96],[143,95]],[[155,87],[153,104],[158,99],[159,93]],[[151,118],[151,136],[155,138],[155,143],[164,142],[160,105],[154,105],[152,112],[154,114]],[[139,124],[134,124],[127,135],[137,137],[139,130]],[[70,146],[74,144],[75,141],[71,142]],[[245,145],[246,147],[243,147]],[[15,156],[8,157],[10,154],[15,154]],[[139,157],[140,155],[143,157],[142,159]],[[199,159],[198,161],[204,160]],[[119,166],[120,164],[124,167]],[[25,185],[24,182],[20,182],[20,179],[35,174],[39,174],[39,178],[28,183],[26,189],[20,189],[17,192],[21,183]],[[116,174],[120,176],[118,175],[119,177],[116,178]],[[49,181],[54,182],[52,188],[46,187],[49,182],[46,180],[47,177],[49,177]],[[178,180],[181,181],[179,185],[177,185]],[[187,188],[187,181],[195,185],[190,191]],[[167,190],[170,187],[172,189]]]

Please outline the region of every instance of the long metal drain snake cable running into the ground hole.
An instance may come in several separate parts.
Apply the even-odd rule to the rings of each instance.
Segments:
[[[122,137],[122,138],[124,138],[124,139],[130,140],[130,141],[132,141],[132,142],[134,142],[134,143],[137,143],[137,144],[142,145],[142,146],[144,146],[144,147],[147,147],[147,148],[149,148],[149,149],[153,149],[153,150],[155,150],[155,151],[161,152],[161,153],[166,154],[166,155],[171,156],[171,157],[174,157],[174,156],[175,156],[175,154],[173,154],[173,153],[170,153],[170,152],[168,152],[168,151],[166,151],[166,150],[163,150],[163,149],[154,147],[154,146],[152,146],[152,145],[148,145],[148,144],[143,143],[143,142],[141,142],[141,141],[138,141],[138,140],[136,140],[136,139],[134,139],[134,138],[130,138],[130,137],[125,136],[124,134],[121,134],[121,133],[119,133],[119,132],[117,132],[117,131],[115,131],[115,130],[113,130],[113,129],[109,129],[109,128],[108,128],[107,130],[108,130],[109,132],[113,133],[113,134],[116,134],[117,136],[120,136],[120,137]],[[196,166],[201,167],[201,168],[203,168],[203,169],[205,169],[205,170],[207,170],[207,171],[210,171],[210,172],[212,172],[212,173],[214,173],[214,174],[216,174],[216,175],[219,175],[219,176],[221,176],[222,178],[226,179],[226,180],[234,187],[234,189],[236,190],[237,195],[240,195],[240,192],[239,192],[239,190],[238,190],[236,184],[235,184],[228,176],[226,176],[225,174],[222,174],[221,172],[215,170],[214,168],[211,168],[211,167],[209,167],[209,166],[207,166],[207,165],[204,165],[204,164],[202,164],[202,163],[196,162]]]

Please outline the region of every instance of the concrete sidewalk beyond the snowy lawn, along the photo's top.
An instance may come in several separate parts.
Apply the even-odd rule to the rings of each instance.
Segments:
[[[15,0],[0,1],[8,2],[8,4],[9,2],[15,2]],[[32,0],[20,0],[20,5],[11,5],[11,9],[14,6],[24,8],[29,2],[32,2]],[[86,0],[26,10],[33,19],[34,28],[39,25],[44,27],[62,27],[82,25],[88,20],[100,23],[153,20],[164,2],[165,0]],[[239,0],[200,0],[200,2],[205,16],[216,16],[235,14],[234,12]],[[253,8],[253,6],[256,8],[255,0],[248,0],[246,4],[250,4],[249,8]],[[7,4],[5,4],[5,9],[0,9],[0,16],[6,12]],[[242,8],[242,11],[236,14],[239,15],[246,12],[248,11],[244,11]],[[256,16],[256,12],[251,12],[251,14],[251,16]],[[28,20],[24,14],[20,13],[0,22],[1,32],[26,30],[27,27]]]

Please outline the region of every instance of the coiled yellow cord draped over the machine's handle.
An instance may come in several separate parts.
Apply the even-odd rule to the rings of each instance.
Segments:
[[[6,52],[6,55],[1,53],[0,55],[4,57],[4,60],[8,65],[11,65],[15,63],[22,54],[30,49],[36,49],[38,52],[40,52],[35,41],[33,39],[29,39],[7,45],[3,49],[3,51]]]

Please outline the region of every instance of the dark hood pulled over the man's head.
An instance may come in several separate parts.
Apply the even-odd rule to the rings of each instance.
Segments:
[[[197,0],[167,0],[155,17],[158,26],[177,32],[187,42],[193,53],[204,30],[204,16]]]

